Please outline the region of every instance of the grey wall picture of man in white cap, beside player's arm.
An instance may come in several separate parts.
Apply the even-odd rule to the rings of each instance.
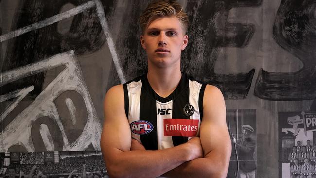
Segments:
[[[227,110],[226,122],[232,143],[227,178],[256,178],[256,110]]]

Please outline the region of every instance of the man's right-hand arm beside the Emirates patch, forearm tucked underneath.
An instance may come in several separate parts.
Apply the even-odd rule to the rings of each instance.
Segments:
[[[226,178],[231,154],[231,143],[226,124],[226,107],[221,91],[211,85],[207,85],[204,92],[200,140],[204,158],[185,162],[163,176]]]

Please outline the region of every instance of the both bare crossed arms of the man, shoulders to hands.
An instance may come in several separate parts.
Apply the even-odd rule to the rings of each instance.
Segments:
[[[216,87],[205,89],[200,136],[164,150],[145,150],[132,140],[122,85],[107,92],[104,111],[101,150],[110,177],[226,177],[231,144],[224,98]]]

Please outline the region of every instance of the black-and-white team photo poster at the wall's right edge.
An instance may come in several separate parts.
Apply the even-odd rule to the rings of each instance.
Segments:
[[[316,112],[279,112],[279,177],[314,178],[315,160]]]

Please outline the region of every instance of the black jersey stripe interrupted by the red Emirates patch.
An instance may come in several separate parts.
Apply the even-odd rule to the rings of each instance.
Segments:
[[[189,82],[188,80],[186,80]],[[185,115],[183,111],[183,107],[189,103],[189,84],[185,87],[183,92],[180,93],[179,96],[176,97],[172,101],[172,118],[173,119],[190,119],[190,116]],[[188,142],[188,137],[181,137],[181,136],[172,136],[172,142],[174,146],[183,144]]]

